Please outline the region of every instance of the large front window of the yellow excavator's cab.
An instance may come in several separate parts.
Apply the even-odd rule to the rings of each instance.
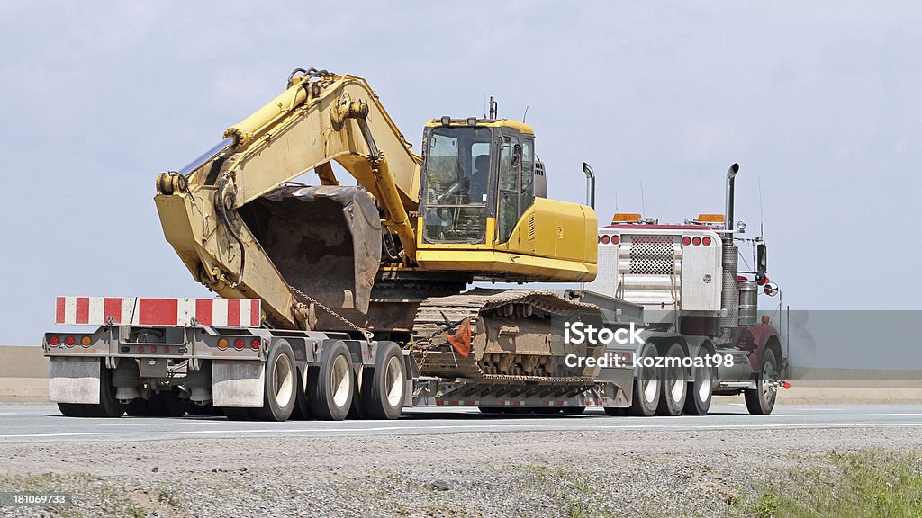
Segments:
[[[425,164],[424,241],[485,241],[490,138],[489,128],[431,131]]]

